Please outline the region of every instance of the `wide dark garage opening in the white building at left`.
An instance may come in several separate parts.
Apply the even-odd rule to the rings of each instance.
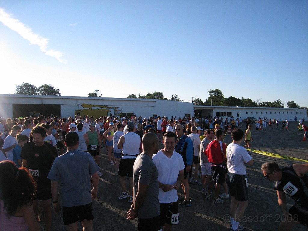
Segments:
[[[61,116],[61,105],[59,104],[13,104],[13,117],[18,118],[19,116],[26,117],[33,113],[40,112],[46,118],[53,116]]]

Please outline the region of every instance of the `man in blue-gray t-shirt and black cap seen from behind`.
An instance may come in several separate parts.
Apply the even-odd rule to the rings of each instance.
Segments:
[[[76,221],[82,219],[84,229],[92,230],[94,216],[91,202],[97,196],[99,166],[90,153],[77,150],[79,136],[76,132],[66,134],[65,144],[68,152],[54,160],[48,174],[51,180],[54,210],[60,214],[61,207],[58,201],[58,183],[60,182],[64,225],[67,225],[68,230],[77,230]]]

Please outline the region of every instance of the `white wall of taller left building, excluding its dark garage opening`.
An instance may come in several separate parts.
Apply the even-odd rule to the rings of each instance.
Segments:
[[[12,104],[58,104],[61,105],[61,117],[74,116],[75,110],[83,109],[82,103],[122,107],[122,112],[133,112],[137,116],[153,115],[183,117],[185,113],[193,115],[193,103],[160,99],[127,99],[47,95],[6,95],[0,94],[0,116],[12,117]],[[113,110],[111,109],[111,114]]]

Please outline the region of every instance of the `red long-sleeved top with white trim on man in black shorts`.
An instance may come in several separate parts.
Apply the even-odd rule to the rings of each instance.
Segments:
[[[222,145],[222,150],[221,151],[221,145]],[[227,146],[219,141],[213,140],[209,143],[208,147],[206,148],[205,154],[209,158],[209,162],[213,164],[221,164],[222,162],[225,162],[223,158],[226,158],[226,153],[227,153]]]

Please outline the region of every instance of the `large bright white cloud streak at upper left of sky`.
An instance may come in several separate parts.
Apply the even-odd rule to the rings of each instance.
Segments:
[[[48,50],[48,39],[40,37],[39,34],[34,34],[31,28],[27,27],[18,19],[12,18],[11,15],[7,14],[2,8],[0,8],[0,22],[9,27],[11,30],[16,31],[22,36],[22,38],[28,40],[30,45],[38,45],[40,50],[43,51],[45,55],[50,55],[58,59],[61,63],[67,63],[66,60],[61,59],[63,56],[61,51]]]

